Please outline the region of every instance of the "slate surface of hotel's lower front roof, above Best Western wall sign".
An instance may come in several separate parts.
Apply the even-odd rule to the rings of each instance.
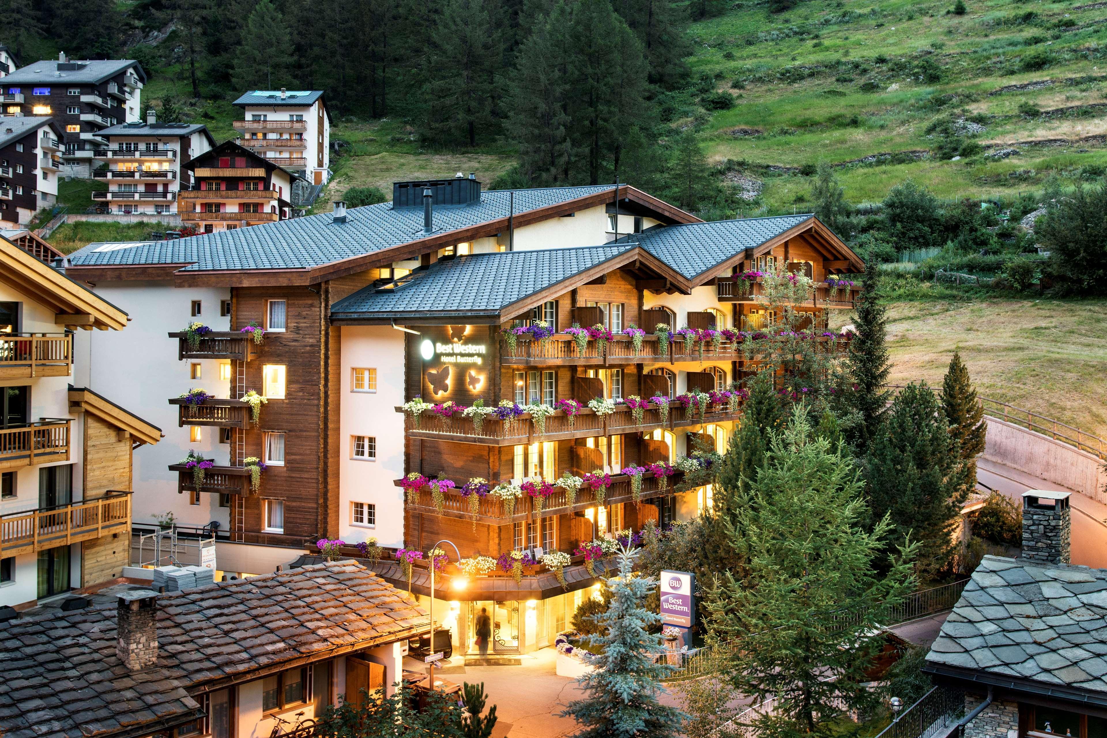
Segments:
[[[498,312],[632,248],[633,243],[621,243],[457,257],[435,262],[395,291],[363,288],[335,303],[331,318]]]

